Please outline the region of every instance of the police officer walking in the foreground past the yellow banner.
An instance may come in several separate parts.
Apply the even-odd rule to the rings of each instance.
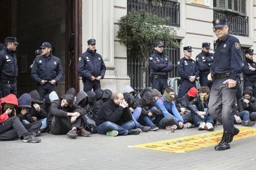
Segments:
[[[237,81],[242,72],[242,52],[240,42],[228,34],[226,19],[213,20],[213,30],[218,39],[213,66],[208,80],[213,80],[211,87],[209,112],[213,118],[223,124],[223,136],[215,150],[230,148],[233,137],[239,133],[234,127],[234,106],[236,101]]]

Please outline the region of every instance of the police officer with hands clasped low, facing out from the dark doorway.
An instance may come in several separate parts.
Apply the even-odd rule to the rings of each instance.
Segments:
[[[63,71],[61,60],[51,54],[51,44],[43,42],[41,56],[36,57],[33,63],[31,77],[37,84],[36,90],[41,99],[52,91],[56,91],[56,84],[62,79]]]

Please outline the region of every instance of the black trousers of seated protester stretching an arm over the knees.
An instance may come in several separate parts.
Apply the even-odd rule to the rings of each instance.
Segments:
[[[81,117],[78,117],[74,123],[71,123],[70,117],[54,116],[51,122],[51,133],[55,135],[67,134],[73,127],[81,127]]]

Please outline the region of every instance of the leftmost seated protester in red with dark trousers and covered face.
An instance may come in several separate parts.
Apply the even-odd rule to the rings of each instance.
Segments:
[[[18,99],[9,94],[0,100],[0,140],[23,139],[23,142],[38,143],[41,139],[33,136],[16,116]]]

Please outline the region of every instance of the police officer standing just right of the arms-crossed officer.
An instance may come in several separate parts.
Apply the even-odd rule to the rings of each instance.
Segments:
[[[186,94],[191,87],[197,87],[195,84],[196,79],[199,76],[199,70],[197,63],[190,59],[192,57],[192,47],[183,47],[184,57],[177,63],[177,70],[179,76],[181,76],[181,86],[179,87],[178,97]]]

